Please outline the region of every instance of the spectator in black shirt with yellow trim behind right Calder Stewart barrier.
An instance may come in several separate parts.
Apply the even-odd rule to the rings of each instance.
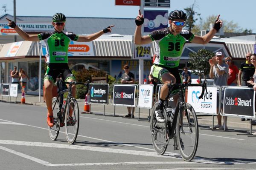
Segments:
[[[253,66],[253,64],[250,61],[250,56],[252,54],[250,52],[248,52],[246,54],[246,61],[245,63],[241,63],[240,69],[239,69],[239,73],[238,73],[238,85],[239,86],[251,86],[250,84],[247,83],[247,81],[250,80],[250,77],[253,76],[254,71],[255,71],[255,67]],[[241,75],[242,76],[242,81],[241,81]],[[241,118],[241,121],[249,121],[249,118]]]

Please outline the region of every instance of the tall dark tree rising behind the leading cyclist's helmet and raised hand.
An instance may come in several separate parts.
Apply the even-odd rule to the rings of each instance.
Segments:
[[[185,8],[184,10],[186,11],[186,14],[187,14],[187,20],[186,20],[186,29],[188,29],[189,31],[191,31],[194,26],[195,26],[195,21],[198,20],[198,18],[195,18],[195,15],[199,16],[200,20],[201,20],[201,17],[198,12],[195,12],[195,7],[197,7],[197,4],[196,2],[194,1],[194,3],[192,4],[192,6],[189,6],[188,8]]]

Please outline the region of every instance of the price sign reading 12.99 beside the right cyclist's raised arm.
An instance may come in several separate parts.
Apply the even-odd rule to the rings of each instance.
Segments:
[[[150,44],[134,45],[134,59],[151,59]]]

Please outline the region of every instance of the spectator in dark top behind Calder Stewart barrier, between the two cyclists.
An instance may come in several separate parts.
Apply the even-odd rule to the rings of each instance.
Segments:
[[[122,75],[121,83],[122,84],[134,84],[134,74],[130,72],[129,66],[127,64],[124,65],[125,73]],[[134,107],[127,107],[128,115],[125,115],[125,118],[134,118]],[[131,114],[132,112],[132,114]]]

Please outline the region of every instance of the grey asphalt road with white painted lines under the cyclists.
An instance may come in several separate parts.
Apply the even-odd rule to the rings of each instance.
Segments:
[[[238,132],[200,128],[198,151],[186,162],[173,150],[163,156],[152,147],[149,123],[82,114],[75,144],[64,128],[49,138],[45,107],[0,102],[1,170],[169,170],[256,168],[256,138]]]

